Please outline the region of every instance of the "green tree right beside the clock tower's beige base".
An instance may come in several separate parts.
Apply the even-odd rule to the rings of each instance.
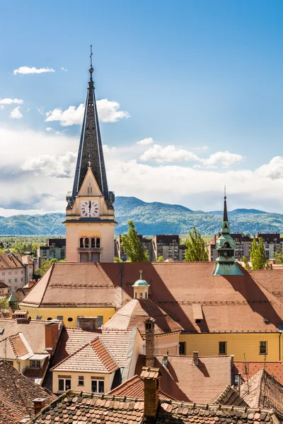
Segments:
[[[141,245],[133,221],[129,220],[128,225],[127,234],[121,236],[121,244],[125,254],[129,257],[130,262],[148,262],[149,254],[144,246]]]

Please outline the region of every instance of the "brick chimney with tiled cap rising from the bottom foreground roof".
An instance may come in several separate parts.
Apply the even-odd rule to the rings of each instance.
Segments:
[[[141,378],[144,379],[144,418],[155,422],[159,406],[160,372],[158,368],[142,367]]]

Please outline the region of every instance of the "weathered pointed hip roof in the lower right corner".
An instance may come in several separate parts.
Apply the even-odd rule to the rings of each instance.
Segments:
[[[241,396],[251,408],[273,408],[283,418],[283,385],[265,370],[242,384]]]

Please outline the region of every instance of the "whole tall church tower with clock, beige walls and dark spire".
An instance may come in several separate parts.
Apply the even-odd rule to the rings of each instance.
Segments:
[[[74,187],[67,194],[66,260],[112,262],[115,196],[113,192],[108,192],[94,93],[92,52],[89,72]]]

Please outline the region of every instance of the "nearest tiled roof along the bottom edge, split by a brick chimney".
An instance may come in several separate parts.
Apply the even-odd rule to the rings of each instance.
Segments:
[[[64,417],[66,423],[144,423],[144,402],[125,396],[99,396],[96,394],[67,391],[44,408],[33,419],[35,424],[55,424]],[[278,424],[274,411],[231,408],[219,405],[184,404],[178,401],[161,400],[157,424],[253,424],[260,420],[266,424]],[[31,423],[30,423],[31,424]]]

